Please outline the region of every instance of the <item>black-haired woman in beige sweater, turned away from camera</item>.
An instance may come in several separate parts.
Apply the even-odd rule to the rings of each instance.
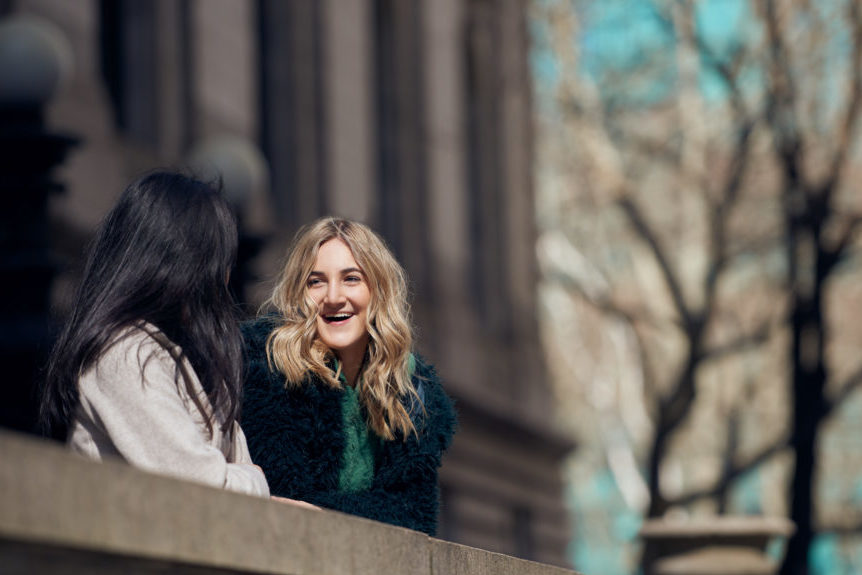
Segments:
[[[227,281],[229,204],[171,172],[102,222],[42,398],[48,434],[96,460],[266,497],[237,423],[242,340]]]

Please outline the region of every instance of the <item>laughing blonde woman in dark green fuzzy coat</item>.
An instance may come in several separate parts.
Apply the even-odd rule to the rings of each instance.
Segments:
[[[411,353],[404,271],[357,222],[297,234],[270,303],[243,328],[243,428],[274,495],[434,534],[455,427]]]

